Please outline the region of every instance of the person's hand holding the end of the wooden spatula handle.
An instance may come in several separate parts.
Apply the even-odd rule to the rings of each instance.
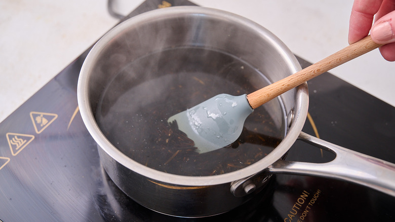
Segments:
[[[375,22],[372,26],[373,16]],[[384,59],[395,61],[395,0],[355,0],[352,5],[348,43],[369,34],[380,47]]]

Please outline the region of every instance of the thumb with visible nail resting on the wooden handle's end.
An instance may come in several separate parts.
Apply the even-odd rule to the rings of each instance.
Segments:
[[[378,44],[395,42],[395,11],[378,19],[370,31],[370,36]]]

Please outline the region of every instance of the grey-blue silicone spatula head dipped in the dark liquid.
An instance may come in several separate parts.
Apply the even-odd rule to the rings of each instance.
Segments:
[[[199,153],[227,146],[239,138],[253,112],[247,95],[219,94],[169,118],[195,143]]]

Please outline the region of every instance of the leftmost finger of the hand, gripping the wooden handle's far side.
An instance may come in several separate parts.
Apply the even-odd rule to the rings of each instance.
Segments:
[[[373,17],[380,9],[383,0],[355,0],[352,5],[348,43],[352,44],[369,34]]]

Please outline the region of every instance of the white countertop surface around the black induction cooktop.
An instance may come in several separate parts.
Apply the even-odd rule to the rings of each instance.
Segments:
[[[142,2],[115,0],[115,10],[127,15]],[[351,0],[191,2],[261,24],[312,63],[348,45]],[[106,0],[0,1],[0,122],[118,22],[106,7]],[[395,62],[378,50],[330,72],[395,106]]]

